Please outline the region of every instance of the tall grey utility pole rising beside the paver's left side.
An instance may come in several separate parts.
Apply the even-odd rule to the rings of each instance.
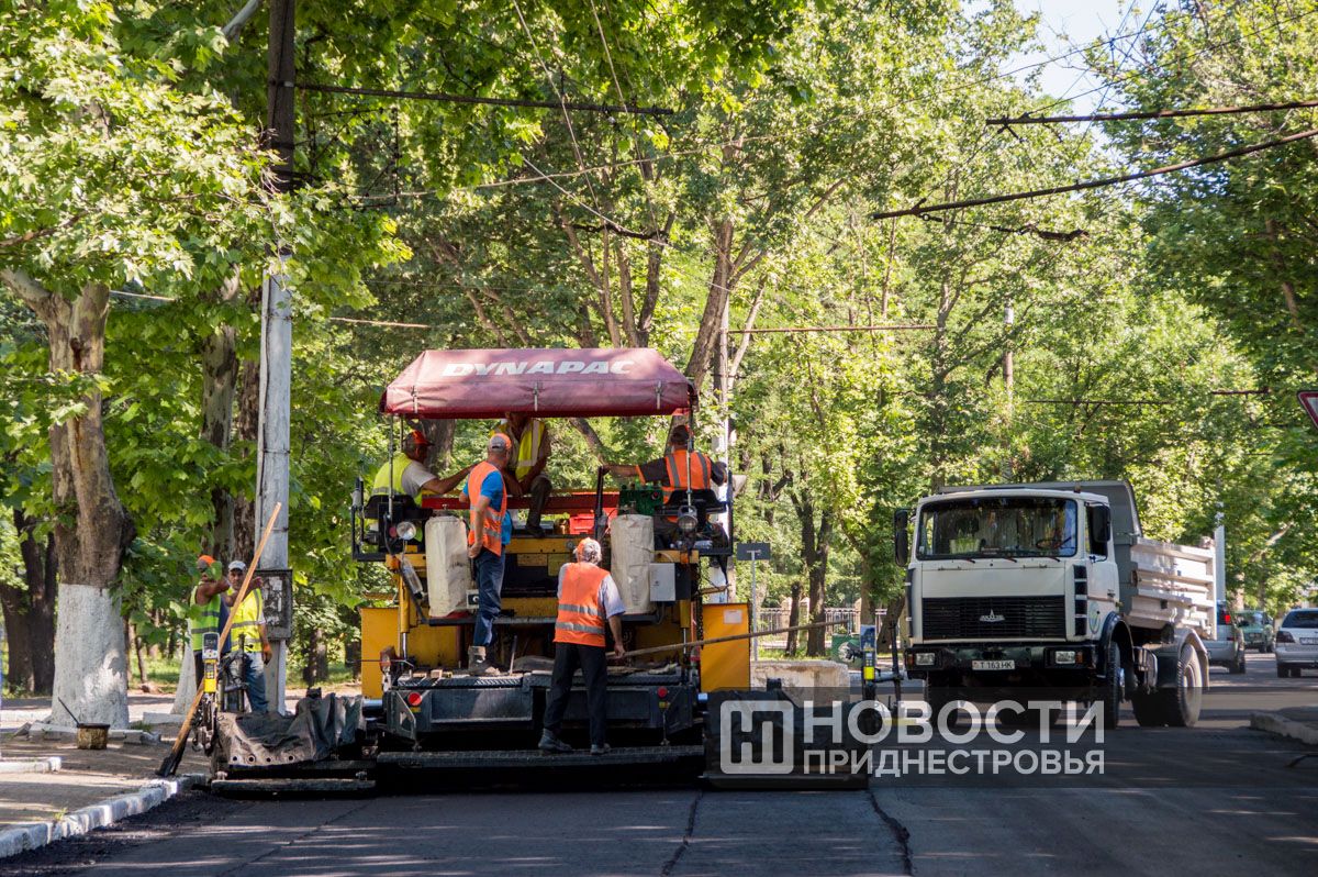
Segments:
[[[274,167],[275,189],[293,189],[294,145],[294,0],[272,0],[268,46],[266,148],[279,160]],[[260,529],[278,504],[261,564],[270,570],[289,566],[289,390],[293,377],[293,310],[283,261],[287,252],[278,247],[279,268],[261,284],[261,414],[257,427],[256,525]],[[289,607],[291,612],[291,607]],[[277,712],[283,712],[289,678],[289,644],[272,641],[273,657],[265,669],[266,691]]]

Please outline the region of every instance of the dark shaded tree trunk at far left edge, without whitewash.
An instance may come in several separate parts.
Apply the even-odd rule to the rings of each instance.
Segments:
[[[9,637],[12,684],[33,694],[50,694],[55,678],[55,537],[36,538],[37,520],[13,510],[25,591],[0,584],[0,607]]]

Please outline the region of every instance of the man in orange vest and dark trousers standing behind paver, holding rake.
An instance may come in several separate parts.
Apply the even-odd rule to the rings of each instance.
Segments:
[[[554,624],[554,679],[544,704],[544,733],[540,749],[544,752],[572,752],[572,746],[559,739],[563,713],[572,691],[572,677],[577,667],[585,679],[587,707],[590,713],[590,754],[609,752],[608,727],[609,669],[605,658],[604,628],[608,621],[613,632],[613,653],[622,658],[622,596],[608,570],[600,568],[602,550],[594,539],[581,539],[576,547],[576,563],[559,568],[559,616]]]

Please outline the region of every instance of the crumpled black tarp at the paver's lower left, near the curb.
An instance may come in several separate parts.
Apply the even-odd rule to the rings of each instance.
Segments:
[[[291,716],[220,713],[216,765],[275,768],[344,754],[361,739],[366,723],[361,696],[335,694],[303,698]]]

